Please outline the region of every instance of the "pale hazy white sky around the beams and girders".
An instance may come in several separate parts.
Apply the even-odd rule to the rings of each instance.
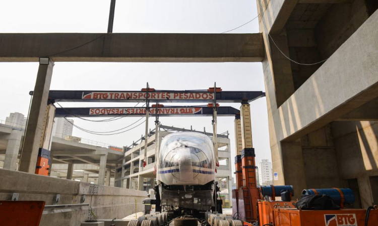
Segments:
[[[0,33],[104,33],[110,0],[1,1]],[[114,33],[221,33],[257,15],[256,1],[117,0]],[[257,33],[253,21],[230,33]],[[1,51],[1,50],[0,50]],[[38,63],[0,63],[0,120],[10,112],[27,115]],[[140,90],[146,82],[156,89],[207,89],[217,82],[223,90],[265,91],[261,63],[64,63],[56,62],[50,89]],[[134,106],[135,103],[60,103],[62,106]],[[167,105],[169,103],[165,103]],[[184,103],[182,103],[184,104]],[[173,104],[172,104],[173,105]],[[177,104],[176,104],[177,105]],[[181,104],[180,104],[181,105]],[[185,104],[187,105],[187,104]],[[239,108],[240,104],[231,105]],[[257,162],[271,159],[266,98],[251,103]],[[97,118],[99,119],[99,118]],[[139,118],[108,123],[74,119],[93,131],[117,130]],[[96,120],[96,119],[94,119]],[[154,128],[150,118],[150,128]],[[161,117],[163,125],[212,132],[211,117]],[[219,117],[218,132],[228,131],[234,164],[234,118]],[[98,136],[74,128],[73,136],[116,146],[129,146],[144,134],[144,125],[123,134]]]

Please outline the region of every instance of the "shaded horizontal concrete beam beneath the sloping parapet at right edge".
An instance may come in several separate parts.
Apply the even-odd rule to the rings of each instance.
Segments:
[[[378,121],[378,98],[350,111],[338,121]]]

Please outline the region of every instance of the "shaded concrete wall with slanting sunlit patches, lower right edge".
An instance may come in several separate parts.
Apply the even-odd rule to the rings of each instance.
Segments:
[[[343,180],[357,179],[363,207],[370,206],[372,191],[370,184],[378,176],[378,122],[333,122],[332,132],[337,152],[340,177]]]

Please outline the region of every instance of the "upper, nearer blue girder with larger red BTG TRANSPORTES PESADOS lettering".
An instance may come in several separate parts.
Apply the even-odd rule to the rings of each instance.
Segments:
[[[146,91],[86,91],[50,90],[49,99],[65,102],[146,102]],[[262,91],[220,91],[215,94],[217,103],[240,103],[265,96]],[[214,92],[204,90],[148,91],[149,102],[213,102]]]

